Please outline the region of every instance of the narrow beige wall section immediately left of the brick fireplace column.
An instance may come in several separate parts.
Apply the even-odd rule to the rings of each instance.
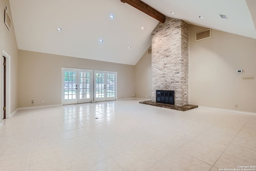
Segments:
[[[141,99],[151,98],[151,54],[145,54],[135,65],[136,91],[135,97]],[[147,97],[146,97],[147,96]]]

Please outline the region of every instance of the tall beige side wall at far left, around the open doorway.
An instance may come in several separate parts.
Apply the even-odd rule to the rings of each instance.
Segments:
[[[0,1],[0,53],[2,56],[2,50],[4,50],[10,56],[10,64],[7,64],[7,70],[10,70],[10,114],[12,114],[18,107],[18,47],[16,43],[16,36],[14,33],[13,23],[11,24],[11,31],[8,30],[4,24],[4,9],[5,4],[9,8],[9,16],[12,18],[10,4],[8,0]],[[2,63],[2,57],[1,57]],[[2,64],[0,65],[0,77],[1,77],[1,108],[2,108]],[[2,109],[1,109],[2,118]],[[2,119],[0,119],[0,123]]]

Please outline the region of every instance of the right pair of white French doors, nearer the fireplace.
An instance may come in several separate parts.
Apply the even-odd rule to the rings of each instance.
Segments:
[[[116,100],[116,72],[95,71],[95,101]]]

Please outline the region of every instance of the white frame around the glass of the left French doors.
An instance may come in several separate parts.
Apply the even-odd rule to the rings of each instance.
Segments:
[[[92,76],[92,70],[87,70],[87,69],[80,69],[80,68],[64,68],[64,67],[62,67],[61,68],[61,104],[63,105],[63,102],[64,102],[64,70],[76,70],[76,71],[89,71],[90,72],[90,87],[91,87],[91,89],[90,89],[90,101],[88,101],[87,103],[90,103],[90,102],[92,102],[92,91],[93,91],[93,87],[92,87],[92,83],[93,83],[93,76]],[[76,82],[78,82],[78,80],[80,79],[80,77],[79,77],[79,73],[77,72],[77,76],[76,76]],[[78,84],[79,84],[79,82],[78,82]],[[77,85],[77,86],[79,86],[79,85]],[[78,92],[78,90],[79,90],[79,88],[77,89],[77,91],[76,91],[76,95],[77,95],[77,103],[79,103],[79,99],[78,98],[80,98],[80,92]]]

